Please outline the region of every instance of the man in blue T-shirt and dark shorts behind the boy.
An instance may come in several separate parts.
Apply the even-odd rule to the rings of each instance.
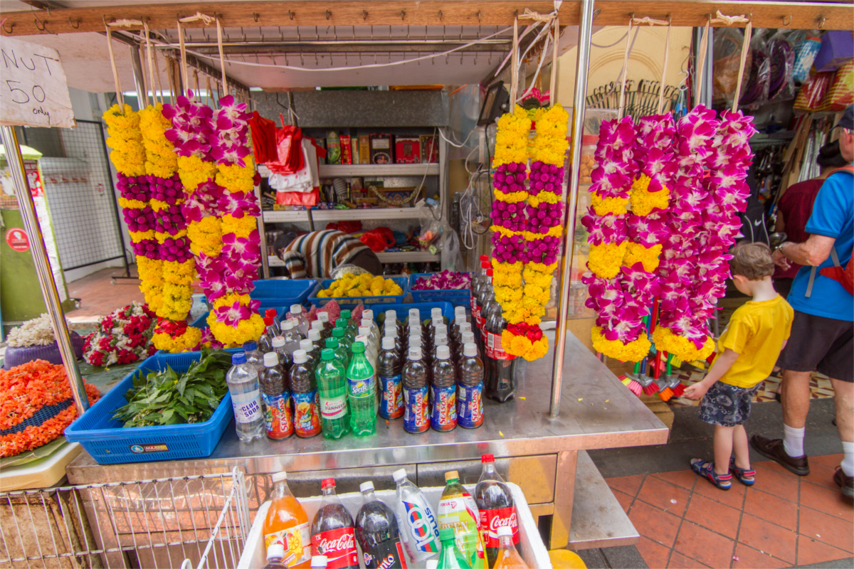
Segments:
[[[834,172],[818,191],[805,228],[809,238],[785,242],[774,253],[781,267],[790,261],[804,265],[788,296],[795,316],[780,356],[784,438],[755,435],[751,446],[793,473],[810,473],[804,427],[810,410],[810,375],[817,369],[834,386],[836,425],[845,453],[834,481],[845,496],[854,496],[854,296],[821,273],[825,267],[847,266],[854,247],[854,105],[845,109],[834,129],[840,130],[839,151],[849,166]]]

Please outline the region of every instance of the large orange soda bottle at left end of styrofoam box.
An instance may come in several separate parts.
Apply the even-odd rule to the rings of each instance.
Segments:
[[[278,549],[280,545],[284,549],[282,565],[308,568],[312,559],[312,539],[306,511],[290,493],[287,473],[273,474],[272,481],[276,487],[264,520],[266,549],[269,552],[271,546]]]

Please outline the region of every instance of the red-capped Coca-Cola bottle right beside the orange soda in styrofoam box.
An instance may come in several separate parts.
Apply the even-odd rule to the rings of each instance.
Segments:
[[[353,516],[335,493],[335,479],[320,483],[323,502],[312,522],[312,554],[325,555],[330,569],[359,568]]]

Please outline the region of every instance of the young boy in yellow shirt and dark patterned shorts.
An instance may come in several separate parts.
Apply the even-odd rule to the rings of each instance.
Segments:
[[[753,298],[734,311],[717,342],[709,373],[687,387],[683,396],[703,398],[699,418],[715,426],[715,462],[695,458],[691,469],[721,490],[732,487],[733,474],[742,484],[753,485],[756,473],[750,466],[744,423],[753,394],[786,345],[794,317],[792,307],[771,284],[774,261],[769,247],[742,243],[732,255],[729,269],[735,287]]]

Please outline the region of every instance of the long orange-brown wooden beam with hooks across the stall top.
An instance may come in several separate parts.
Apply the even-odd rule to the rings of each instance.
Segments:
[[[128,3],[114,7],[50,9],[3,12],[0,33],[9,36],[40,33],[102,32],[104,20],[148,20],[152,29],[171,29],[175,20],[201,12],[219,17],[225,27],[238,26],[510,26],[516,14],[528,8],[541,14],[553,9],[552,2],[534,0],[403,0],[401,2],[208,2],[208,3]],[[752,15],[753,27],[819,28],[850,30],[854,5],[818,2],[720,2],[699,0],[599,0],[594,23],[599,26],[627,25],[629,15],[664,18],[674,26],[703,26],[717,10],[725,15]],[[560,24],[576,26],[581,14],[579,0],[565,0],[560,8]],[[784,26],[784,24],[786,24]],[[190,22],[187,27],[201,27]],[[139,29],[131,26],[121,29]]]

